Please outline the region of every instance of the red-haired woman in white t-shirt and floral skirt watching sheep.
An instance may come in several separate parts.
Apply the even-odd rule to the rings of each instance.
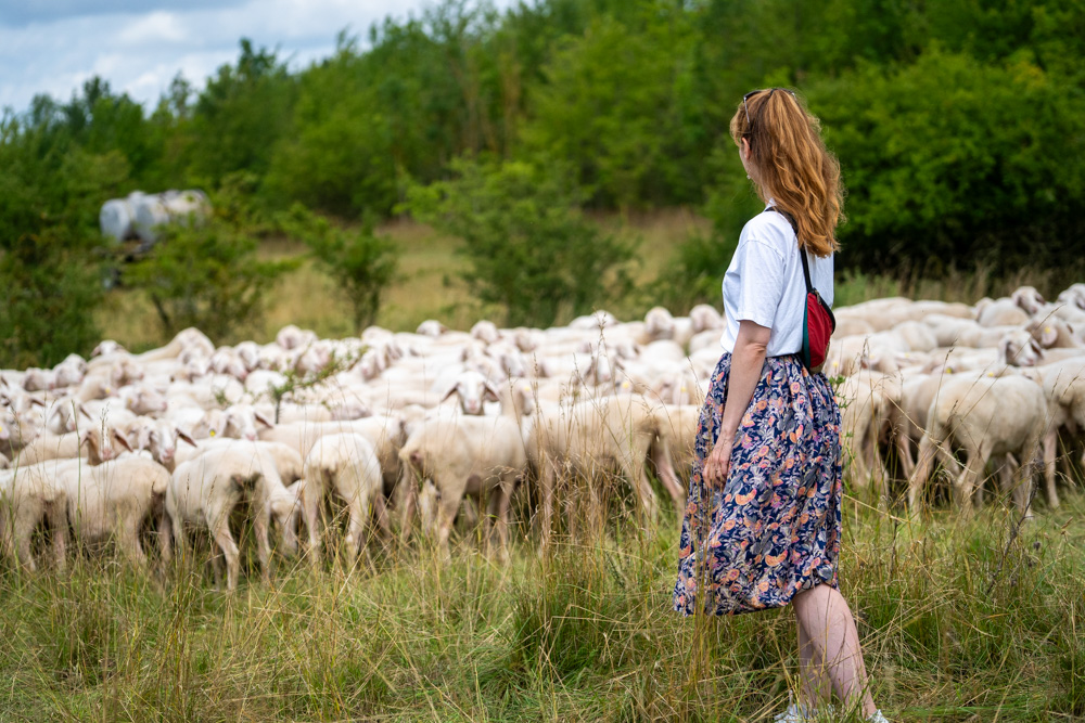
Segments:
[[[742,229],[724,276],[724,354],[701,411],[675,609],[738,615],[791,603],[802,685],[800,702],[777,720],[812,718],[830,695],[828,679],[845,705],[883,722],[837,585],[840,411],[825,375],[797,356],[800,253],[832,304],[840,166],[817,118],[786,89],[748,93],[730,132],[767,206]]]

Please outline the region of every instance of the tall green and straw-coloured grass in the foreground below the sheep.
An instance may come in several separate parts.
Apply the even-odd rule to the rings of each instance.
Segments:
[[[908,524],[847,499],[841,585],[896,721],[1085,716],[1085,496]],[[669,520],[669,517],[667,518]],[[682,619],[677,534],[633,522],[512,563],[471,532],[350,572],[276,563],[233,594],[112,558],[0,572],[0,720],[767,721],[795,686],[789,610]]]

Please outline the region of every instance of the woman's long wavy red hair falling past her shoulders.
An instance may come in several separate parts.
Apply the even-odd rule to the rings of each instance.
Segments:
[[[740,147],[743,138],[750,141],[757,195],[791,215],[801,248],[820,257],[835,251],[844,186],[840,163],[821,138],[821,122],[782,88],[755,91],[744,106],[739,103],[730,131]]]

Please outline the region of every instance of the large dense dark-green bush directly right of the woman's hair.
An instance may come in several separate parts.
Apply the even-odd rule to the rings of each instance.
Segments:
[[[914,65],[863,65],[809,89],[839,154],[850,221],[841,260],[939,275],[1054,267],[1085,244],[1085,99],[1018,54],[982,64],[936,46]]]

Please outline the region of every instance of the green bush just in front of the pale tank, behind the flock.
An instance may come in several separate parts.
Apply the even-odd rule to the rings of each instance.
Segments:
[[[271,227],[244,202],[251,183],[228,177],[207,223],[164,227],[148,256],[125,269],[125,283],[144,289],[154,304],[163,338],[195,326],[222,339],[251,326],[271,282],[297,267],[295,260],[257,258],[257,240]]]

